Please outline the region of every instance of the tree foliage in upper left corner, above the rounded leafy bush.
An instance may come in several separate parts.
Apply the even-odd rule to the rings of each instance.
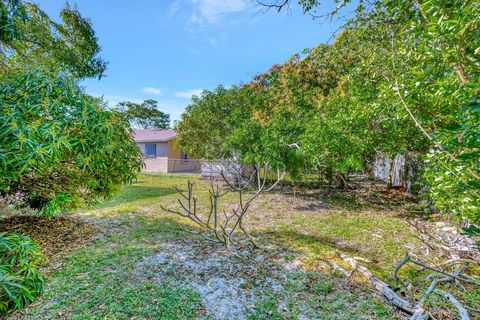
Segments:
[[[38,5],[0,1],[0,71],[38,69],[77,79],[101,78],[107,63],[89,20],[68,4],[55,22]]]

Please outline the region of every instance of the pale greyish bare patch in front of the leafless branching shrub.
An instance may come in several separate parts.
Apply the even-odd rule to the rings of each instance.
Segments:
[[[248,310],[265,291],[279,292],[287,273],[303,274],[299,260],[285,262],[276,249],[228,250],[203,242],[167,242],[153,256],[137,263],[134,275],[141,280],[173,277],[197,291],[207,316],[213,319],[246,319]],[[285,301],[279,305],[285,306]]]

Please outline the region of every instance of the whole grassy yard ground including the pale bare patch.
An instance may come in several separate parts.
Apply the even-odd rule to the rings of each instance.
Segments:
[[[369,259],[368,268],[388,281],[406,250],[421,248],[402,207],[313,192],[270,193],[257,201],[245,223],[263,248],[226,250],[179,230],[178,223],[189,222],[161,210],[161,205],[175,206],[172,186],[184,187],[189,179],[205,208],[208,181],[142,174],[114,199],[76,213],[96,226],[98,236],[54,257],[46,292],[11,318],[401,318],[361,277],[347,280],[335,270],[349,270],[335,251]],[[225,201],[228,206],[235,195]],[[408,269],[403,275],[415,280]],[[475,305],[480,292],[461,297]],[[432,298],[433,309],[442,303]]]

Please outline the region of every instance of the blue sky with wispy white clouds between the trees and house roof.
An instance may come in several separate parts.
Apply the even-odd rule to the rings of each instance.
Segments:
[[[37,1],[57,18],[65,1]],[[70,2],[71,4],[73,2]],[[155,99],[179,118],[192,94],[246,82],[305,48],[327,42],[340,21],[313,21],[298,7],[264,12],[255,0],[77,0],[109,61],[86,91],[119,101]]]

